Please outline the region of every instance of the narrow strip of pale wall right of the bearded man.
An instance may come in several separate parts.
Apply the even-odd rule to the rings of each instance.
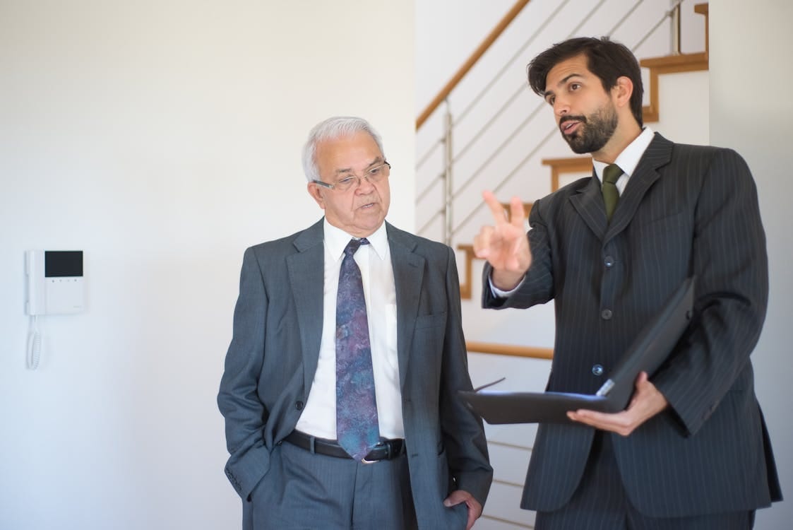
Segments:
[[[740,152],[760,195],[768,240],[771,296],[760,343],[752,359],[760,400],[771,432],[787,501],[757,514],[758,530],[791,528],[793,521],[793,262],[791,247],[791,144],[793,84],[788,67],[793,41],[786,0],[711,2],[711,142]]]

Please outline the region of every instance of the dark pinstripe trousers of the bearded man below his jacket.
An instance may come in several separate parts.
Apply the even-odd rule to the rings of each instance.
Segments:
[[[754,511],[695,517],[647,517],[630,504],[611,445],[597,432],[584,477],[569,503],[538,512],[535,530],[749,530]]]

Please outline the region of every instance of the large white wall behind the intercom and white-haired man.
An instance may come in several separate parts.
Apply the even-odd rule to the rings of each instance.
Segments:
[[[0,0],[0,528],[239,528],[215,396],[244,248],[320,217],[300,148],[367,117],[414,225],[412,2]],[[23,252],[82,249],[42,319]]]

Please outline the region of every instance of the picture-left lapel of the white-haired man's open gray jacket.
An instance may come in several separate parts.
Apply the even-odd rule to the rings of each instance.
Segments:
[[[311,388],[320,357],[322,340],[324,297],[324,229],[323,220],[305,229],[294,240],[296,254],[286,257],[289,285],[297,309],[297,326],[300,329],[303,350],[303,384]],[[317,280],[319,278],[319,281]]]

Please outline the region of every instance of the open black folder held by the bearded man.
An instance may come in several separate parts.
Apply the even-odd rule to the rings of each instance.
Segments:
[[[462,390],[460,395],[488,424],[571,423],[567,412],[577,409],[619,412],[628,405],[638,374],[652,375],[680,340],[693,305],[694,278],[688,278],[630,344],[596,394]]]

